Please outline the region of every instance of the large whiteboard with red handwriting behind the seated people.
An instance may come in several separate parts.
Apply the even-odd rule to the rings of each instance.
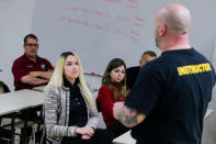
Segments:
[[[86,71],[103,74],[114,57],[129,67],[138,65],[147,49],[160,54],[154,37],[155,15],[173,1],[190,9],[191,44],[211,59],[215,0],[37,0],[32,32],[39,38],[39,54],[54,65],[61,52],[71,51]]]

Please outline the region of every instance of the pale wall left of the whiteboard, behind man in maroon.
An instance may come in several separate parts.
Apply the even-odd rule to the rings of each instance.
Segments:
[[[23,37],[31,32],[36,0],[0,0],[0,80],[11,90],[13,60],[23,54]]]

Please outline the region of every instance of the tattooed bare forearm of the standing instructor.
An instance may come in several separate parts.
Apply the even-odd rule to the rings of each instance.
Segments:
[[[113,114],[116,120],[122,122],[127,128],[136,126],[141,123],[146,115],[137,112],[135,109],[126,107],[123,102],[115,102]]]

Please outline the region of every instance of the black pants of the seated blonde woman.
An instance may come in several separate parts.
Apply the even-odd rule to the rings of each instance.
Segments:
[[[76,137],[64,137],[60,144],[112,144],[113,133],[106,130],[96,129],[89,140],[82,140],[81,135]]]

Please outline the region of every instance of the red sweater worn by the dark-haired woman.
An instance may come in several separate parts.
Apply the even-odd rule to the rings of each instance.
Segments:
[[[120,84],[112,84],[117,89],[117,92],[120,92]],[[120,93],[120,97],[121,100],[116,100],[113,90],[106,85],[103,85],[99,90],[96,101],[100,103],[100,109],[106,128],[111,126],[114,122],[116,122],[113,115],[114,102],[125,101],[125,97],[122,93]]]

